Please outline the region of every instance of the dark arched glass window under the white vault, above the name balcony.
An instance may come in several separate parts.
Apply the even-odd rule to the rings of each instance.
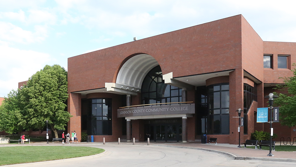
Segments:
[[[160,66],[154,67],[142,83],[142,104],[182,101],[182,89],[164,83]]]

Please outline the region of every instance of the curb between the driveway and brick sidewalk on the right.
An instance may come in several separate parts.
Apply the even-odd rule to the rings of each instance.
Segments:
[[[229,152],[211,150],[211,149],[207,149],[207,148],[171,146],[171,145],[156,145],[156,144],[154,146],[163,146],[163,147],[172,147],[172,148],[186,148],[186,149],[204,150],[204,151],[208,151],[208,152],[216,152],[216,153],[227,155],[227,156],[233,158],[233,160],[296,162],[296,159],[290,159],[290,158],[242,157],[242,156],[236,156],[236,155],[229,153]]]

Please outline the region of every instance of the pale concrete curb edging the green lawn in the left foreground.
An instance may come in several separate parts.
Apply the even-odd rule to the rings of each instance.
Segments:
[[[75,157],[75,158],[68,158],[68,159],[62,159],[62,160],[52,160],[52,161],[42,161],[42,162],[31,162],[31,163],[25,163],[25,164],[14,164],[14,165],[3,165],[3,167],[17,167],[17,166],[22,166],[22,167],[27,167],[27,166],[39,166],[39,165],[46,165],[46,164],[54,164],[54,163],[59,163],[59,162],[70,162],[74,160],[82,160],[82,159],[90,159],[90,158],[97,158],[99,156],[103,156],[107,154],[107,151],[105,150],[104,152],[96,155],[91,155],[91,156],[81,156],[81,157]],[[2,167],[2,166],[1,166]]]

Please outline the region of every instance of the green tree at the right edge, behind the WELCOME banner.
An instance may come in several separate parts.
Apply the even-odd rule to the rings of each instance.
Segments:
[[[294,76],[284,77],[284,86],[278,85],[278,90],[288,91],[287,94],[279,94],[274,104],[280,106],[280,122],[282,125],[296,125],[296,69],[292,70]]]

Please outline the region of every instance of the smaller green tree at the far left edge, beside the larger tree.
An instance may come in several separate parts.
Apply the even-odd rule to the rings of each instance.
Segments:
[[[26,121],[23,117],[22,106],[19,102],[20,93],[12,90],[4,98],[0,106],[0,131],[12,134],[22,131],[26,127]]]

